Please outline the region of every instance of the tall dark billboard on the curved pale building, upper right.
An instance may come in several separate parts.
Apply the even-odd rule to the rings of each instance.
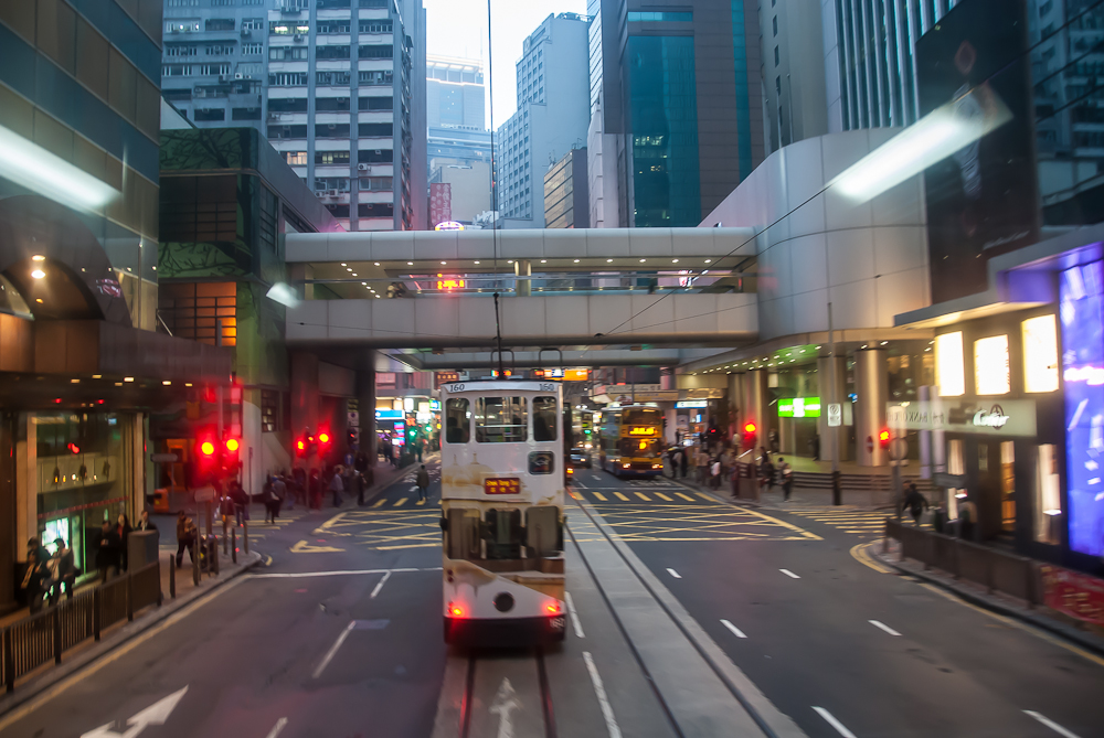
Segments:
[[[1040,206],[1025,0],[965,0],[916,43],[920,115],[1000,117],[985,136],[930,167],[932,301],[984,291],[989,258],[1034,243]]]

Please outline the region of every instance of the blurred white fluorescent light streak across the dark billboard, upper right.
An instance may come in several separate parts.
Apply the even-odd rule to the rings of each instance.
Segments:
[[[980,89],[985,92],[979,94]],[[1012,114],[991,88],[972,89],[848,167],[829,185],[856,203],[867,202],[1011,119]]]

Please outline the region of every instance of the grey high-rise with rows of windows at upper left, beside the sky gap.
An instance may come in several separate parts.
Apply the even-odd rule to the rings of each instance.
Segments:
[[[261,128],[350,231],[425,227],[420,0],[166,0],[164,29],[164,94],[197,126]]]

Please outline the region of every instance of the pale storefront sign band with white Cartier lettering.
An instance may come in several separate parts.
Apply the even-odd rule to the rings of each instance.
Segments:
[[[907,430],[1036,435],[1036,404],[1031,399],[1006,399],[1000,403],[940,399],[931,403],[890,403],[888,406],[904,408],[904,427]]]

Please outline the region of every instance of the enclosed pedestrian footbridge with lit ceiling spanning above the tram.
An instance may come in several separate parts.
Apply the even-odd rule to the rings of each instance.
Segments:
[[[733,346],[757,336],[750,228],[288,234],[293,346]]]

